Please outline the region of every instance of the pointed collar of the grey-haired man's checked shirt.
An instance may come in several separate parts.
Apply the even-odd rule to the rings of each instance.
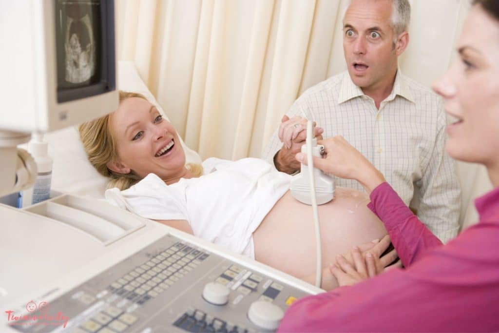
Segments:
[[[386,101],[390,101],[395,99],[395,96],[401,96],[407,99],[410,102],[415,103],[414,96],[411,93],[411,89],[409,89],[409,83],[407,79],[404,77],[400,68],[397,69],[397,74],[395,75],[395,82],[393,83],[393,89],[390,95],[385,99]],[[338,96],[338,104],[344,103],[347,100],[352,98],[365,96],[362,92],[362,89],[353,83],[352,78],[348,71],[346,71],[343,75],[343,80],[341,82],[341,90]]]

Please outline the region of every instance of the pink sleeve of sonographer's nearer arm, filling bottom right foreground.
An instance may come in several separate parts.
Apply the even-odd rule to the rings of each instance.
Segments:
[[[406,270],[300,299],[279,332],[499,332],[498,238],[479,224]]]

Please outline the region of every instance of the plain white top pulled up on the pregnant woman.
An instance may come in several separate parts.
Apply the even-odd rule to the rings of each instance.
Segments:
[[[106,199],[148,219],[186,220],[195,236],[254,259],[253,232],[291,176],[256,158],[209,158],[203,169],[204,176],[171,185],[149,174],[127,190],[107,190]]]

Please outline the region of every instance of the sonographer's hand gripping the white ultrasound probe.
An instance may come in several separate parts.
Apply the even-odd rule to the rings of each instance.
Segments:
[[[368,193],[385,182],[385,177],[357,149],[337,135],[318,142],[324,146],[322,158],[313,157],[314,167],[335,176],[357,180]],[[307,164],[306,155],[296,154],[296,160]]]

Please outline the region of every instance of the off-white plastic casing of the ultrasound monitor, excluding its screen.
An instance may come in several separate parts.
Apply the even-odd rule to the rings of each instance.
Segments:
[[[0,0],[0,15],[0,130],[53,131],[117,108],[114,87],[84,100],[57,102],[55,1]],[[114,43],[114,31],[110,39]],[[111,46],[108,56],[114,59]],[[114,77],[115,66],[110,70]]]

